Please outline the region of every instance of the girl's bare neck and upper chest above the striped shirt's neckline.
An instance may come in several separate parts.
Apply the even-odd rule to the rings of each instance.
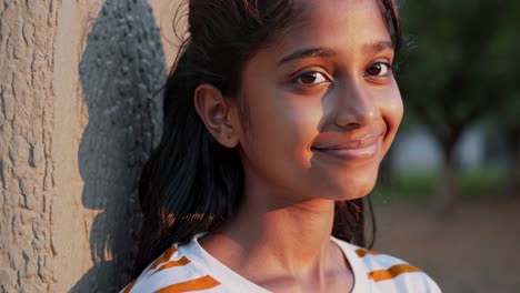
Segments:
[[[201,241],[232,270],[252,281],[280,275],[321,279],[331,264],[344,265],[330,241],[333,201],[291,202],[258,188],[247,191],[244,200],[228,225]]]

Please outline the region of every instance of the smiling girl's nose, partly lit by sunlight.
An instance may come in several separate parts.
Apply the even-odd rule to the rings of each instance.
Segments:
[[[349,82],[339,87],[333,122],[341,128],[361,128],[380,118],[380,111],[367,87]]]

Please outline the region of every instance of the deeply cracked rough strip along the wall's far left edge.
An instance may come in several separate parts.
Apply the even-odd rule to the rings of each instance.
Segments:
[[[52,68],[60,1],[0,6],[0,289],[52,283]]]

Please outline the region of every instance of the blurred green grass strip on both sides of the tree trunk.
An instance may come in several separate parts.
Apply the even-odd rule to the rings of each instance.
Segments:
[[[461,171],[457,174],[456,186],[459,199],[472,200],[501,194],[504,172],[497,169]],[[413,172],[380,179],[371,193],[374,203],[399,203],[428,201],[434,196],[439,174]]]

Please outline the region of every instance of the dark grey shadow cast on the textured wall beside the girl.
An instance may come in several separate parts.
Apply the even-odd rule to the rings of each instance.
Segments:
[[[159,138],[164,54],[146,0],[107,0],[79,64],[89,123],[78,159],[94,263],[70,292],[117,292],[130,282],[140,223],[139,172]]]

